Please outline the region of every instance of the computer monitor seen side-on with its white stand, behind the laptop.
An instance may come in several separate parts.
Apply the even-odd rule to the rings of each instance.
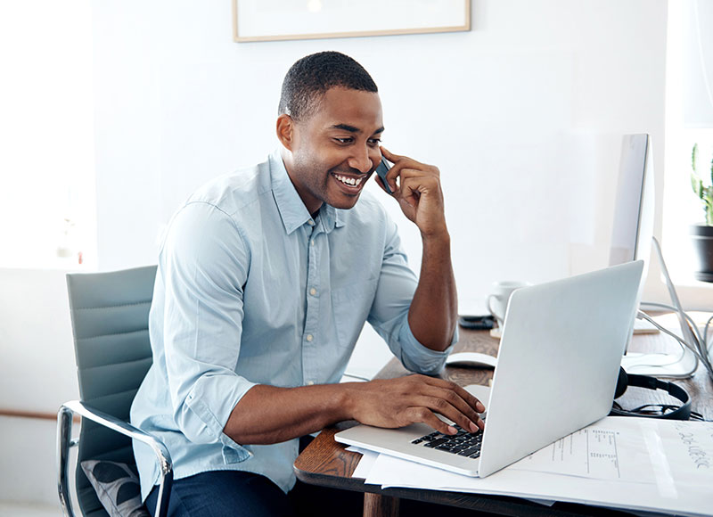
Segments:
[[[644,269],[638,299],[641,301],[646,281],[652,242],[655,244],[661,273],[668,287],[671,302],[676,308],[683,338],[693,345],[693,332],[684,319],[684,311],[676,288],[668,275],[666,263],[658,242],[653,237],[656,207],[653,183],[651,137],[646,134],[624,135],[619,161],[619,181],[611,231],[609,264],[616,266],[631,260],[643,259]],[[632,328],[632,333],[634,328]],[[621,365],[627,373],[641,373],[666,377],[687,377],[695,371],[697,358],[690,352],[684,354],[637,354],[628,351]]]

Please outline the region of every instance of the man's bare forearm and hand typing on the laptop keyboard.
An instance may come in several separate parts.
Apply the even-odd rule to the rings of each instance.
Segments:
[[[234,407],[223,431],[242,445],[278,443],[344,420],[388,428],[422,422],[454,434],[435,413],[475,432],[484,426],[477,413],[482,411],[463,388],[424,375],[299,388],[258,384]]]

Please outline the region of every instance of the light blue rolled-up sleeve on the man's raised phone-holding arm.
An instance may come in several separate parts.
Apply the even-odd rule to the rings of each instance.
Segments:
[[[458,341],[458,331],[455,330],[450,346],[442,352],[429,349],[415,338],[408,324],[408,309],[414,300],[418,279],[408,267],[397,226],[388,218],[385,242],[379,284],[367,321],[408,370],[415,373],[438,373]]]

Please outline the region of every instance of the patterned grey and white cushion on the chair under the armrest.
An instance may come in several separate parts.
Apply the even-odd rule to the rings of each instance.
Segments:
[[[126,464],[86,460],[81,465],[111,517],[151,517],[141,501],[139,479]]]

